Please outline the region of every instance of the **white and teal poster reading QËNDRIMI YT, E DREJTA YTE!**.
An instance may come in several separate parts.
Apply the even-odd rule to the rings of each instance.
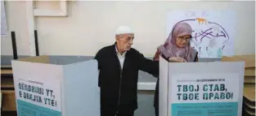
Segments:
[[[61,81],[16,78],[17,114],[20,116],[61,116]]]

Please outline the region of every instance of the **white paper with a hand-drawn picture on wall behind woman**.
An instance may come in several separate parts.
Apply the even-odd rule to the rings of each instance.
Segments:
[[[191,46],[199,58],[221,58],[234,54],[235,11],[169,11],[166,37],[173,26],[186,22],[193,29]]]

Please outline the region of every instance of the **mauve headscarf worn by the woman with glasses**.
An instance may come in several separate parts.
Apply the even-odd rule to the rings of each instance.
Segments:
[[[173,26],[172,32],[170,32],[164,45],[160,45],[158,50],[165,58],[180,57],[184,58],[186,62],[193,62],[197,51],[191,47],[188,43],[184,48],[178,48],[176,45],[176,38],[183,35],[191,35],[192,28],[189,24],[182,22]]]

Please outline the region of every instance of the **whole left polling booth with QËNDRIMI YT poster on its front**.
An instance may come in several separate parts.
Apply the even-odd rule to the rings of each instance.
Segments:
[[[96,60],[39,56],[11,65],[18,116],[100,116]]]

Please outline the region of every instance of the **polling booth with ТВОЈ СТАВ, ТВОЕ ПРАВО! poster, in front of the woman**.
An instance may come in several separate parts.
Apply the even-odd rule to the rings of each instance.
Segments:
[[[245,62],[159,61],[159,116],[241,116]]]

